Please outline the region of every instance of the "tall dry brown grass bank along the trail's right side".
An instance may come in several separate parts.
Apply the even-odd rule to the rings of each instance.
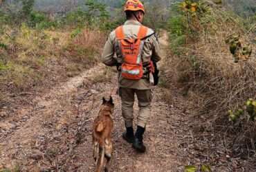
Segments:
[[[250,157],[255,154],[255,122],[248,122],[244,116],[233,124],[228,121],[227,111],[244,108],[248,98],[256,98],[256,48],[251,39],[255,35],[244,28],[241,19],[223,9],[212,8],[200,22],[204,24],[194,30],[198,38],[179,47],[181,54],[170,60],[173,69],[169,77],[183,87],[183,94],[196,105],[197,115],[208,118],[205,128],[221,133],[217,140],[225,138],[227,147]],[[248,61],[234,63],[225,43],[233,33],[241,35],[242,44],[253,46]]]

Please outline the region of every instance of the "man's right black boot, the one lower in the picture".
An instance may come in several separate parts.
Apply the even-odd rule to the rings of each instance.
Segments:
[[[132,144],[132,147],[136,149],[136,151],[140,153],[145,153],[146,147],[143,144],[143,134],[145,132],[145,128],[138,126],[137,131],[135,133],[135,139]]]

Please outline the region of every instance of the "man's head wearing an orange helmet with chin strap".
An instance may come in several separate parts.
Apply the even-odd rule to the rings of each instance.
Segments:
[[[128,0],[125,3],[125,14],[127,19],[137,20],[142,23],[145,14],[143,3],[139,0]]]

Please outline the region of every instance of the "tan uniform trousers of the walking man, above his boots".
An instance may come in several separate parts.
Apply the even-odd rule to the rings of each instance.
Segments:
[[[145,128],[150,116],[152,91],[151,89],[131,89],[120,87],[122,99],[122,116],[125,127],[132,127],[134,120],[134,95],[138,98],[138,126]]]

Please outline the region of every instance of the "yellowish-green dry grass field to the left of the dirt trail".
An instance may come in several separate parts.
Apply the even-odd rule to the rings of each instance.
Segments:
[[[0,90],[20,95],[51,87],[57,80],[80,74],[98,62],[105,34],[98,30],[35,30],[2,27],[0,35]],[[46,82],[48,81],[48,82]],[[4,97],[4,96],[3,96]],[[9,99],[6,97],[5,99]],[[0,105],[6,102],[0,100]]]

